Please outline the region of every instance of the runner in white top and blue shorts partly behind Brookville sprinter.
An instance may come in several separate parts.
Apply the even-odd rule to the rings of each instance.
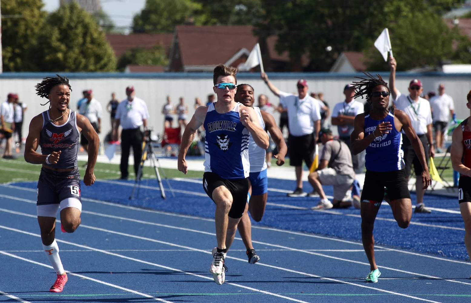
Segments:
[[[278,153],[275,155],[277,159],[276,164],[281,166],[284,164],[284,156],[286,155],[288,147],[283,139],[283,133],[276,125],[275,118],[267,112],[261,111],[259,107],[253,106],[254,93],[253,88],[249,84],[239,84],[237,86],[237,93],[235,94],[235,101],[244,104],[245,106],[252,106],[258,116],[260,127],[267,130],[273,141],[276,143],[276,150]],[[250,175],[249,175],[249,204],[245,206],[244,215],[239,222],[237,229],[244,241],[246,248],[245,253],[248,257],[248,262],[253,264],[260,260],[260,257],[255,252],[252,245],[252,223],[248,212],[250,212],[252,219],[259,222],[265,213],[265,206],[267,205],[268,196],[268,178],[267,178],[267,163],[265,161],[266,150],[260,148],[252,136],[249,141],[249,160],[250,160]]]

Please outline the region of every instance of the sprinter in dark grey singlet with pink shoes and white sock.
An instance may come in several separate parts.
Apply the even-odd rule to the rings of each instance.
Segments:
[[[36,85],[37,94],[48,98],[49,110],[32,118],[24,148],[24,160],[42,164],[38,181],[37,212],[42,247],[54,270],[56,282],[49,291],[62,292],[67,275],[56,242],[56,216],[60,206],[61,229],[74,232],[81,219],[80,174],[77,168],[79,135],[89,140],[85,185],[95,182],[99,139],[89,120],[67,108],[71,86],[67,77],[46,77]],[[37,153],[41,146],[41,154]]]

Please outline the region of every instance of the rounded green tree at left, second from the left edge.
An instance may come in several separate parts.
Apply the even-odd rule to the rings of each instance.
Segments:
[[[97,22],[77,3],[61,6],[48,16],[32,56],[37,71],[112,72],[113,49]]]

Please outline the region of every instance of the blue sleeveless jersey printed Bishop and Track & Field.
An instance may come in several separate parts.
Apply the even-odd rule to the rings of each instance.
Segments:
[[[402,134],[394,126],[394,115],[389,112],[381,121],[374,120],[365,115],[365,137],[370,135],[379,123],[391,123],[389,133],[374,138],[366,147],[365,167],[373,172],[392,172],[404,168],[404,152],[402,151]]]

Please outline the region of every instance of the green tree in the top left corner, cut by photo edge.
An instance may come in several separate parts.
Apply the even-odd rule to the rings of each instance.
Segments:
[[[3,71],[29,71],[29,49],[36,43],[47,15],[41,11],[43,5],[41,0],[1,1]]]

